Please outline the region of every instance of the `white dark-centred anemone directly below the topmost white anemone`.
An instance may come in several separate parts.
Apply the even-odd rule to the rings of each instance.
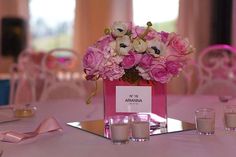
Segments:
[[[129,36],[125,35],[116,38],[116,51],[119,55],[128,55],[131,48],[132,45]]]

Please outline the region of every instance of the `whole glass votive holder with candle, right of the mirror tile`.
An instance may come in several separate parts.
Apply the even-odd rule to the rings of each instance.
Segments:
[[[196,129],[199,134],[212,135],[215,132],[215,111],[201,108],[195,111]]]

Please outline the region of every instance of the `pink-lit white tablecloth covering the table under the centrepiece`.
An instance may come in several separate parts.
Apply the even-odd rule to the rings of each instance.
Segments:
[[[228,103],[236,103],[232,100]],[[66,125],[66,122],[103,118],[101,98],[87,106],[84,100],[35,103],[35,117],[0,124],[0,131],[34,130],[46,117],[54,116],[63,132],[42,134],[20,143],[0,143],[3,157],[235,157],[236,132],[223,129],[223,103],[210,96],[168,96],[169,117],[194,122],[194,111],[211,107],[216,111],[216,132],[211,136],[196,131],[152,136],[147,142],[114,145],[111,141]],[[4,112],[3,110],[1,112]]]

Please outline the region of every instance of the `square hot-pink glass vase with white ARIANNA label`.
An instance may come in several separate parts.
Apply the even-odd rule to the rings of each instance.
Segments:
[[[151,127],[167,127],[166,84],[140,80],[131,84],[123,80],[103,80],[104,120],[115,115],[149,113]]]

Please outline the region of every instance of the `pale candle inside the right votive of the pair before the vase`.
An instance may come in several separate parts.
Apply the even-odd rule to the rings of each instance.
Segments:
[[[132,138],[137,141],[145,141],[150,137],[150,126],[149,122],[133,122],[132,123]]]

